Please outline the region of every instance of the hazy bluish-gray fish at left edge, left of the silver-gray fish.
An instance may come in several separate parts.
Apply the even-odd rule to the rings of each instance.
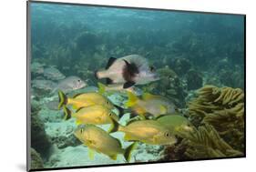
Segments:
[[[37,89],[42,89],[46,91],[51,91],[56,88],[56,83],[45,79],[36,79],[32,81],[32,87]]]

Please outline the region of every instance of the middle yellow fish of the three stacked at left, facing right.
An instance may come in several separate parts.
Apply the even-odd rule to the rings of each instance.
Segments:
[[[118,121],[119,117],[106,106],[86,106],[77,109],[75,113],[71,112],[67,106],[63,107],[65,112],[65,119],[75,117],[77,125],[81,124],[93,124],[93,125],[105,125],[113,124],[113,120]],[[113,126],[111,126],[113,127]],[[111,130],[111,127],[109,130]]]

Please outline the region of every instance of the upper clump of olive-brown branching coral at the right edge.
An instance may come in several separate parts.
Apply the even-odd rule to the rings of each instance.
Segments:
[[[204,121],[214,121],[213,116],[227,121],[243,119],[244,93],[240,88],[204,86],[198,90],[198,95],[189,102],[189,117],[194,123],[200,124],[204,117]]]

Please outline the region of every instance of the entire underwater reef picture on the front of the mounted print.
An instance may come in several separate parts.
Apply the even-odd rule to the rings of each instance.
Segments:
[[[30,168],[245,156],[243,15],[30,10]]]

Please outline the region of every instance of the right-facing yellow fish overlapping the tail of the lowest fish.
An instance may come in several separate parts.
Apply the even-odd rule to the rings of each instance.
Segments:
[[[148,145],[173,145],[177,141],[169,129],[156,120],[131,121],[127,126],[120,126],[117,121],[113,123],[115,126],[110,132],[124,132],[127,141],[140,141]]]

